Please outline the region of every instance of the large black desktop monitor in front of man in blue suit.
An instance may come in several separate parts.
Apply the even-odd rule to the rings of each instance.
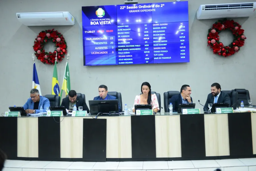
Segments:
[[[119,113],[118,100],[89,100],[89,106],[91,115]]]

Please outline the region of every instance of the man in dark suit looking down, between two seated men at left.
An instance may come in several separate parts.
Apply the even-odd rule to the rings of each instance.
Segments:
[[[83,106],[83,110],[86,110],[87,113],[89,113],[89,108],[86,105],[84,99],[77,97],[75,90],[70,90],[68,92],[68,97],[62,100],[61,106],[65,106],[65,108],[68,110],[73,110],[74,105],[76,105],[77,110],[79,106]]]

